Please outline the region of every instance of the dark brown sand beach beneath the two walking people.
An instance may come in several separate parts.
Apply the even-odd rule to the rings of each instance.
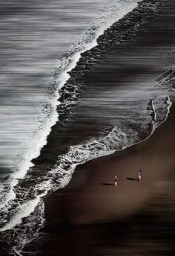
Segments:
[[[47,199],[41,255],[173,255],[174,114],[148,140],[76,168]]]

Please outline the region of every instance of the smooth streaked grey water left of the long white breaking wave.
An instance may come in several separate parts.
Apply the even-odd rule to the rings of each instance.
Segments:
[[[56,61],[110,4],[113,1],[1,1],[1,177],[27,149]]]

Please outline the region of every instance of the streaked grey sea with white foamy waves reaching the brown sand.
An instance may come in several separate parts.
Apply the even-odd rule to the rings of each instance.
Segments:
[[[110,70],[115,68],[110,65],[113,51],[131,42],[149,19],[159,15],[163,4],[165,1],[133,0],[2,4],[6,31],[1,42],[0,231],[9,253],[22,255],[24,246],[39,235],[44,196],[65,187],[77,164],[142,141],[167,118],[174,94],[169,73],[158,80],[152,74],[146,82],[135,79],[131,83],[126,70],[122,78],[115,77],[121,79],[117,88],[110,78]],[[130,54],[126,53],[128,60]],[[119,61],[119,54],[116,59]],[[137,70],[140,61],[136,60]],[[153,61],[154,69],[159,61]],[[108,67],[105,77],[110,89],[105,77],[96,80],[99,65]],[[159,65],[155,74],[162,74],[165,68]],[[151,68],[147,73],[151,74]],[[173,76],[174,71],[171,73]],[[68,140],[67,151],[59,154],[50,141],[59,144],[62,133],[57,136],[53,125],[72,125],[78,132],[97,126],[99,132],[95,137],[89,133],[79,144]],[[49,159],[50,147],[58,159],[50,170],[36,171],[31,160],[45,144],[41,159]]]

